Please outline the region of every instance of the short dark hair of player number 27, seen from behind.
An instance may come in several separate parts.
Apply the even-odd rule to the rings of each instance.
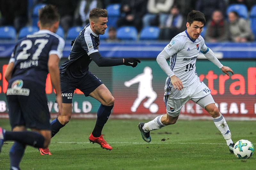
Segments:
[[[41,26],[52,26],[57,21],[60,21],[60,14],[54,5],[45,5],[38,11],[38,19]]]

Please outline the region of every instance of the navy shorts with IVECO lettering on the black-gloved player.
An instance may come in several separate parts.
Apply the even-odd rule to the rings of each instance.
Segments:
[[[61,75],[60,86],[62,103],[72,103],[73,94],[76,89],[81,90],[85,97],[87,97],[91,92],[93,92],[102,84],[103,83],[101,80],[91,72],[88,72],[88,74],[86,74],[83,78],[80,78],[76,81],[70,80],[68,76]]]

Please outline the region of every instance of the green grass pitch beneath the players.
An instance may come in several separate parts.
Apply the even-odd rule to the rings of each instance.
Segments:
[[[103,129],[113,150],[102,150],[89,143],[95,120],[72,120],[52,138],[51,156],[42,156],[28,146],[21,169],[255,169],[256,154],[250,159],[237,159],[212,121],[177,121],[176,124],[152,131],[151,143],[141,139],[137,127],[148,120],[109,119]],[[255,121],[228,121],[232,139],[256,143]],[[9,120],[0,126],[10,130]],[[5,142],[0,154],[0,169],[9,169],[9,149]]]

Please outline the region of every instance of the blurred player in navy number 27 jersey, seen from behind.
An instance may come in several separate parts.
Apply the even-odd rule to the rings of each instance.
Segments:
[[[42,8],[38,21],[40,30],[16,44],[7,66],[5,78],[9,85],[6,96],[12,131],[0,127],[0,150],[4,141],[15,141],[10,150],[10,169],[20,169],[26,145],[45,148],[50,143],[50,112],[45,94],[48,72],[56,90],[59,113],[62,110],[58,67],[65,41],[55,34],[59,20],[55,6]]]

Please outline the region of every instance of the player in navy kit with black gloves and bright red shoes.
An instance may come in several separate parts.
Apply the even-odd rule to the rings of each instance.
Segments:
[[[63,111],[51,123],[52,137],[64,127],[71,118],[72,98],[75,89],[84,95],[97,99],[101,105],[97,113],[95,127],[89,136],[92,143],[100,144],[102,148],[111,150],[112,147],[101,135],[104,124],[108,121],[114,107],[114,97],[108,88],[89,71],[89,64],[93,60],[99,67],[127,65],[136,67],[140,60],[136,58],[110,59],[103,58],[99,51],[100,35],[107,29],[108,12],[105,9],[94,8],[90,11],[90,23],[72,41],[72,49],[68,59],[60,66],[60,85],[62,91]],[[48,150],[48,148],[41,148]]]

